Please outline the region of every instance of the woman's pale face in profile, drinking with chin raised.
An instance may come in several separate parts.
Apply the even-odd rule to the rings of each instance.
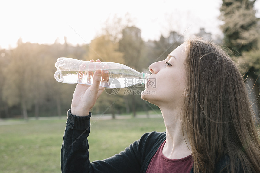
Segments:
[[[186,91],[185,45],[178,46],[163,61],[149,66],[152,73],[141,98],[157,106],[180,104]],[[172,105],[173,106],[173,105]]]

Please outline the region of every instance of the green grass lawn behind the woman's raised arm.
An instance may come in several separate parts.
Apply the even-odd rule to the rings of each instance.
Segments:
[[[165,131],[161,118],[94,121],[88,138],[90,161],[119,153],[146,132]],[[23,124],[0,126],[1,172],[61,172],[66,119],[20,122]]]

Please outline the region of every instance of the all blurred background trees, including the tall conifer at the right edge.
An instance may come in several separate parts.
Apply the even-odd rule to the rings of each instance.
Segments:
[[[252,83],[249,94],[254,95],[252,102],[259,110],[260,24],[255,17],[254,2],[223,0],[220,19],[224,21],[221,26],[224,38],[221,41],[230,56],[238,60],[247,82]],[[133,27],[129,20],[124,24],[122,18],[117,17],[104,26],[89,45],[72,46],[67,43],[66,37],[63,44],[57,39],[51,45],[23,43],[19,39],[16,48],[0,50],[0,118],[28,119],[67,114],[76,84],[55,80],[54,64],[59,57],[118,62],[149,73],[151,63],[165,59],[184,41],[182,35],[170,31],[168,37],[161,35],[158,41],[145,42],[140,29]],[[126,90],[142,91],[144,86],[121,88],[116,95],[104,92],[91,111],[93,114],[113,116],[135,116],[137,111],[156,114],[156,106],[143,101],[140,94],[125,94]]]

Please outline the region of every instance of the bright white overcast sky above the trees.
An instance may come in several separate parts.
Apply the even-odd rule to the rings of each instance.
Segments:
[[[260,0],[255,2],[260,17]],[[0,49],[12,49],[17,40],[52,44],[58,38],[72,45],[90,43],[112,18],[130,19],[144,41],[167,37],[171,30],[188,37],[200,28],[221,36],[218,19],[221,0],[5,0],[0,3]],[[188,29],[187,29],[188,28]]]

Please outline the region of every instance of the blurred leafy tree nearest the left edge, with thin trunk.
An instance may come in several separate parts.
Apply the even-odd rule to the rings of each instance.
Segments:
[[[37,46],[36,44],[34,47]],[[3,86],[3,100],[9,106],[19,105],[24,119],[28,119],[27,109],[33,105],[34,80],[37,74],[34,63],[36,52],[31,49],[31,43],[22,43],[18,40],[18,46],[11,51],[11,62],[4,69],[5,83]]]

